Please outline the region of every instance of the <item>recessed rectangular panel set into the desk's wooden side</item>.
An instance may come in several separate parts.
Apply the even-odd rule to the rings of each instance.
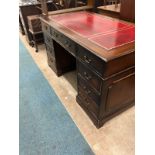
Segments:
[[[114,81],[108,87],[106,111],[111,111],[134,100],[134,74]]]

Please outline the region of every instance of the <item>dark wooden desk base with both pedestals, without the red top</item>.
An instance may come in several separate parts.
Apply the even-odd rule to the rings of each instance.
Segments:
[[[42,29],[48,64],[58,76],[73,69],[76,58],[76,100],[97,128],[133,105],[134,52],[107,62],[44,22]]]

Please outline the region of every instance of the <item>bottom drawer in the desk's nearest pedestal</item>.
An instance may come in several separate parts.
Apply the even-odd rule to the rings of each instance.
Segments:
[[[78,88],[78,97],[81,99],[82,104],[91,112],[93,113],[96,117],[98,115],[98,106],[91,100],[83,90],[79,87]]]

